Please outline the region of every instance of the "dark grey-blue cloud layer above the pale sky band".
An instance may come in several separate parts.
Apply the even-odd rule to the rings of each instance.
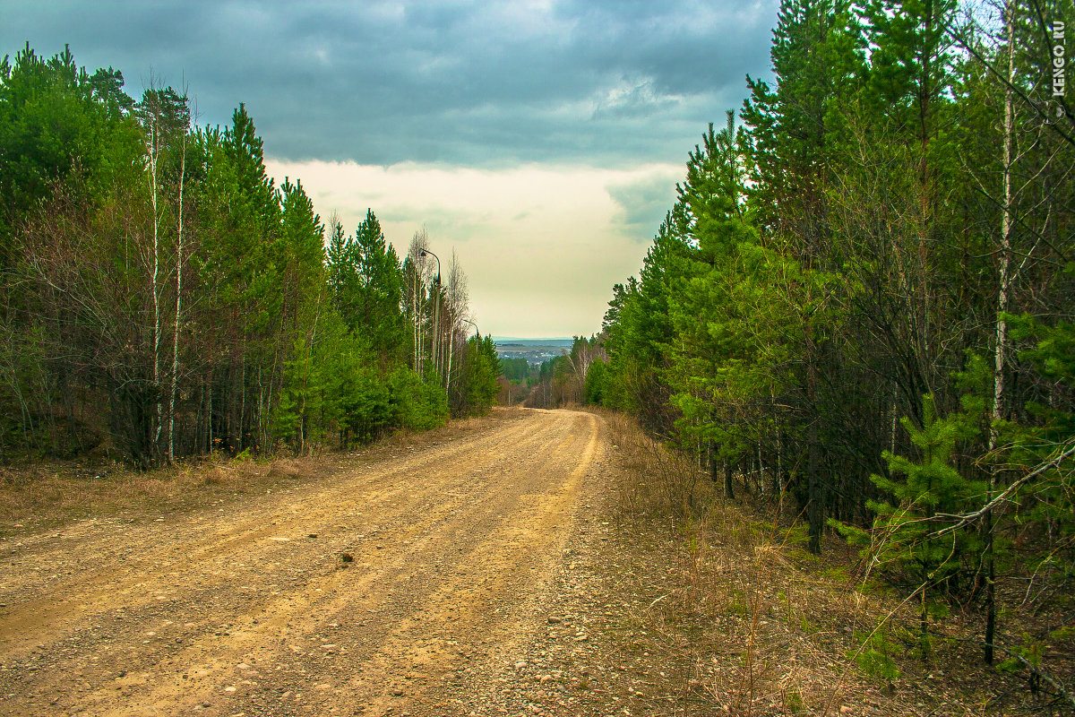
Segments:
[[[0,52],[246,102],[292,160],[484,166],[678,160],[768,73],[764,2],[10,2]]]

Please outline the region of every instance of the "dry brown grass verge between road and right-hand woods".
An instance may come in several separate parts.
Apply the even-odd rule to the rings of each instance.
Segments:
[[[624,417],[606,420],[627,469],[622,520],[672,536],[648,558],[675,576],[668,598],[634,620],[690,665],[682,714],[1070,714],[980,664],[974,616],[935,626],[923,659],[915,605],[858,582],[841,541],[809,555],[804,529],[768,521],[775,506],[725,501],[690,460]]]

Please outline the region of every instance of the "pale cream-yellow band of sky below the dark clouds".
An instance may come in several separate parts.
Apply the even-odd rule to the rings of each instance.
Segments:
[[[660,221],[639,223],[625,190],[666,184],[668,210],[683,175],[679,164],[656,163],[475,169],[267,158],[266,167],[277,185],[300,180],[321,220],[334,211],[348,233],[372,209],[401,256],[426,226],[445,272],[455,250],[482,332],[524,339],[601,330],[613,284],[637,273]]]

